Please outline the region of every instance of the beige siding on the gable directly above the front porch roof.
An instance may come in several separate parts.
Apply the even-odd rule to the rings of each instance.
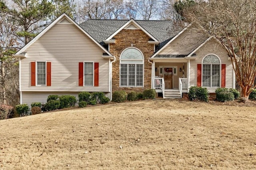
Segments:
[[[158,54],[188,55],[206,39],[207,37],[205,37],[203,34],[198,33],[193,28],[188,28]]]

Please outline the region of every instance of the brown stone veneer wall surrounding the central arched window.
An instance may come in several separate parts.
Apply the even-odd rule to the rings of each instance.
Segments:
[[[151,89],[151,63],[148,58],[154,53],[154,44],[148,43],[150,37],[142,30],[121,30],[114,36],[116,43],[110,44],[110,53],[116,57],[112,64],[112,91],[124,90],[127,92],[142,92]],[[144,57],[144,87],[120,87],[120,55],[128,47],[138,48]]]

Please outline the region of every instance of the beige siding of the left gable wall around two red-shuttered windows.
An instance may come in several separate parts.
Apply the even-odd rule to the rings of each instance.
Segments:
[[[21,91],[109,91],[109,60],[102,50],[74,24],[56,24],[28,49],[21,60]],[[52,85],[31,86],[30,62],[51,62]],[[99,86],[78,86],[78,63],[99,63]]]

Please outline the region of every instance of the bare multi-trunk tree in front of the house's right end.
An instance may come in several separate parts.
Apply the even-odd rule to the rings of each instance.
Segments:
[[[185,18],[213,36],[226,49],[242,89],[248,98],[256,88],[256,3],[255,0],[197,1],[185,9]]]

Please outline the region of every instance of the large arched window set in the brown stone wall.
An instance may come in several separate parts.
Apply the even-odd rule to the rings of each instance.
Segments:
[[[120,56],[120,86],[143,87],[144,57],[140,50],[130,47]]]

